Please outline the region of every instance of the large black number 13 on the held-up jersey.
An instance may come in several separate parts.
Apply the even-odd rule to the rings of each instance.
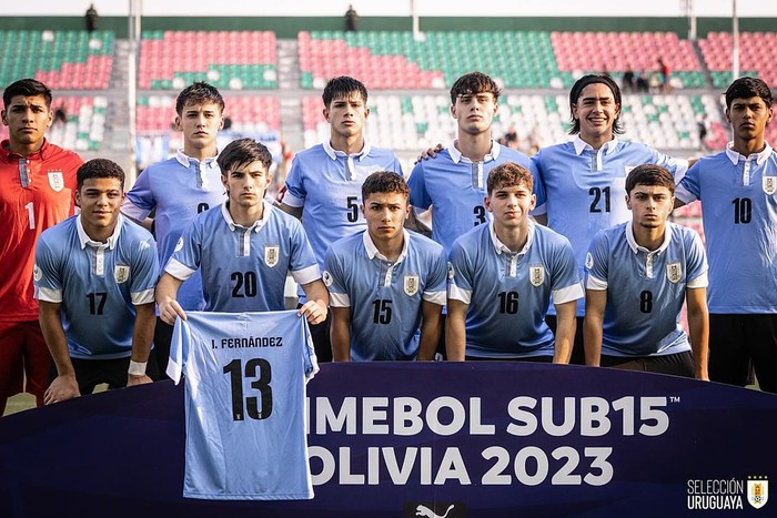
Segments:
[[[264,358],[253,358],[245,363],[245,377],[255,378],[251,388],[259,390],[260,397],[243,398],[243,369],[240,358],[224,365],[224,374],[230,375],[232,386],[232,419],[245,420],[245,414],[252,419],[266,419],[272,414],[272,368]],[[256,373],[259,370],[259,374]],[[260,402],[261,398],[261,409]]]

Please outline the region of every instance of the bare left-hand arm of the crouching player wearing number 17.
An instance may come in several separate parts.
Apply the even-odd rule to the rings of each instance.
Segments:
[[[46,345],[49,347],[49,353],[51,353],[51,358],[57,366],[57,378],[46,389],[43,404],[51,405],[52,403],[79,397],[81,392],[75,380],[75,369],[73,369],[73,363],[70,360],[68,342],[64,338],[64,328],[60,316],[62,304],[39,299],[38,305],[40,308],[40,328],[43,333]]]

